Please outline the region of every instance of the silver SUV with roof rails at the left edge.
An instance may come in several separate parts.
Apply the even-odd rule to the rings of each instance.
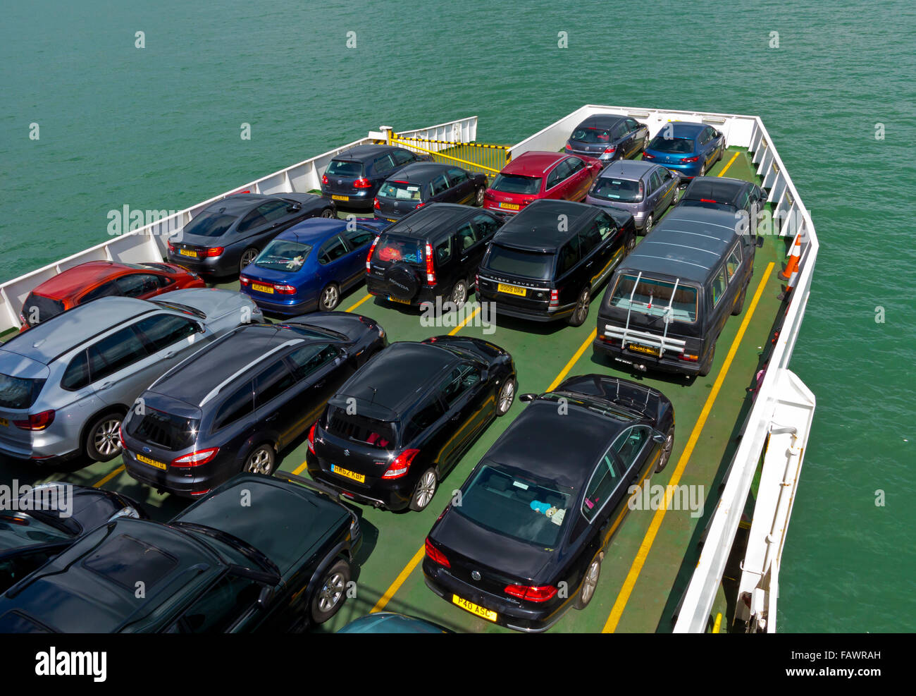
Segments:
[[[241,293],[193,288],[155,300],[102,297],[0,346],[0,456],[52,464],[121,453],[136,397],[181,359],[263,321]]]

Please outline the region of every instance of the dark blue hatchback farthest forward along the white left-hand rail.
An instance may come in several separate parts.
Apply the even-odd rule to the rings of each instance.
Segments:
[[[322,195],[342,207],[372,209],[378,188],[392,174],[429,155],[391,145],[357,145],[328,163],[322,174]]]

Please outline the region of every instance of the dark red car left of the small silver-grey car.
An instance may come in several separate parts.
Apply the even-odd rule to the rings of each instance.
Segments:
[[[532,150],[509,162],[484,193],[484,207],[514,215],[531,201],[582,201],[604,165],[592,157]]]

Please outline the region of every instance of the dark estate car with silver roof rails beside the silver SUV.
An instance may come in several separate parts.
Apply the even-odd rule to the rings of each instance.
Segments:
[[[242,326],[140,395],[122,427],[127,473],[186,497],[239,471],[269,474],[278,452],[386,345],[381,326],[345,312]]]

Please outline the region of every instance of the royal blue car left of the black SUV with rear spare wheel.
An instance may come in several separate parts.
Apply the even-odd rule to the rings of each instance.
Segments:
[[[389,222],[313,218],[274,238],[239,276],[241,290],[274,315],[330,312],[365,278],[373,240]]]

